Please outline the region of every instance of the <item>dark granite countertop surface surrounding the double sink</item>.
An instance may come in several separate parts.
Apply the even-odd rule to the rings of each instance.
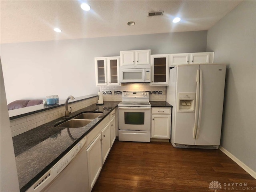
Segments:
[[[103,106],[94,104],[72,112],[70,118],[62,117],[13,137],[20,192],[30,188],[119,103],[120,101],[109,101],[104,102]],[[82,128],[54,127],[55,124],[69,120],[85,111],[103,113]]]

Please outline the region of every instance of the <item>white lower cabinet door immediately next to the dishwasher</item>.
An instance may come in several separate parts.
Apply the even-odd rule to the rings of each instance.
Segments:
[[[88,165],[88,180],[89,190],[91,191],[102,168],[102,144],[101,134],[98,134],[96,139],[87,148],[87,165]]]

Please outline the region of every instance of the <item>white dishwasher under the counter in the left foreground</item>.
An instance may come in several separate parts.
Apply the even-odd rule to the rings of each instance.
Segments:
[[[89,192],[86,137],[44,174],[27,192]]]

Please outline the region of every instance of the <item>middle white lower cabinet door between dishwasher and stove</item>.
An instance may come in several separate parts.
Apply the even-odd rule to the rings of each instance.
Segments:
[[[102,144],[102,164],[106,161],[108,153],[110,152],[110,123],[108,123],[101,131]]]

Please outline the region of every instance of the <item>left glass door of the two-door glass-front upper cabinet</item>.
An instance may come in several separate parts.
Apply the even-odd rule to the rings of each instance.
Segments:
[[[96,86],[107,85],[106,58],[95,58]]]

